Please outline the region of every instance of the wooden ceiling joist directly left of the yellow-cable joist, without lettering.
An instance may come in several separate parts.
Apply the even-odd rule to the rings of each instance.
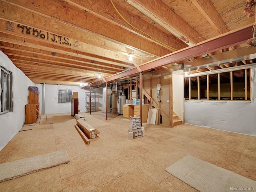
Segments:
[[[7,2],[11,2],[12,6],[19,6],[20,8],[33,12],[34,14],[68,24],[109,40],[111,39],[114,42],[120,42],[123,45],[127,45],[128,48],[131,47],[145,52],[146,47],[148,49],[146,52],[156,56],[163,56],[170,52],[168,49],[146,40],[137,34],[130,33],[130,36],[128,37],[125,35],[128,31],[124,28],[107,23],[92,14],[87,14],[82,10],[75,9],[74,7],[64,6],[59,2],[51,0],[36,2],[34,0],[27,0],[25,4],[22,0],[8,0]],[[15,9],[16,8],[14,8],[14,10]],[[58,10],[66,10],[66,12],[58,12]],[[6,10],[6,12],[8,11],[9,10]],[[52,16],[52,12],[55,13],[54,17]],[[23,12],[19,12],[19,14],[22,18],[25,18]],[[75,18],[79,19],[75,20]],[[97,23],[97,25],[95,25],[95,23]],[[109,30],[111,30],[111,32]]]

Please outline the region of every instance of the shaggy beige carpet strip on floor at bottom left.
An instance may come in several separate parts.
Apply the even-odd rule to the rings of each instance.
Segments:
[[[70,162],[66,150],[0,164],[0,182]]]

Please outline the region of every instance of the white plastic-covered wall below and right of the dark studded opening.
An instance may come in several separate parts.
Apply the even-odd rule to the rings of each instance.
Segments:
[[[248,101],[184,101],[185,123],[256,136],[256,68]]]

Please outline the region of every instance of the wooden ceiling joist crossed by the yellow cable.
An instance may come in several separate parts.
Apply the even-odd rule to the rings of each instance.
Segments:
[[[174,52],[174,50],[170,47],[176,47],[176,49],[182,49],[186,47],[186,44],[180,40],[177,40],[177,38],[170,37],[168,34],[162,32],[148,22],[138,18],[138,16],[128,12],[118,4],[114,4],[117,11],[124,17],[124,19],[128,20],[130,23],[127,24],[126,21],[122,19],[118,12],[115,10],[110,0],[102,0],[100,4],[94,3],[92,1],[84,2],[83,0],[66,0],[65,2],[82,10],[86,10],[90,12],[90,14],[96,15],[98,18],[102,18],[103,20],[107,20],[110,23],[125,28],[132,33],[139,34],[140,36],[143,36],[144,38],[147,38],[156,44],[160,44],[161,46],[168,48],[170,52]],[[131,25],[134,26],[134,28]],[[144,33],[141,32],[141,30]],[[150,38],[149,36],[154,38]]]

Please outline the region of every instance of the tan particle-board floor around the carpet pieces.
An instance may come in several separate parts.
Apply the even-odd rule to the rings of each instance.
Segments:
[[[70,163],[0,183],[0,192],[196,192],[164,169],[190,154],[256,181],[256,137],[191,125],[144,125],[128,139],[128,120],[102,112],[80,113],[100,131],[85,145],[70,113],[53,124],[18,132],[0,151],[0,163],[67,150]],[[46,115],[42,115],[46,116]]]

